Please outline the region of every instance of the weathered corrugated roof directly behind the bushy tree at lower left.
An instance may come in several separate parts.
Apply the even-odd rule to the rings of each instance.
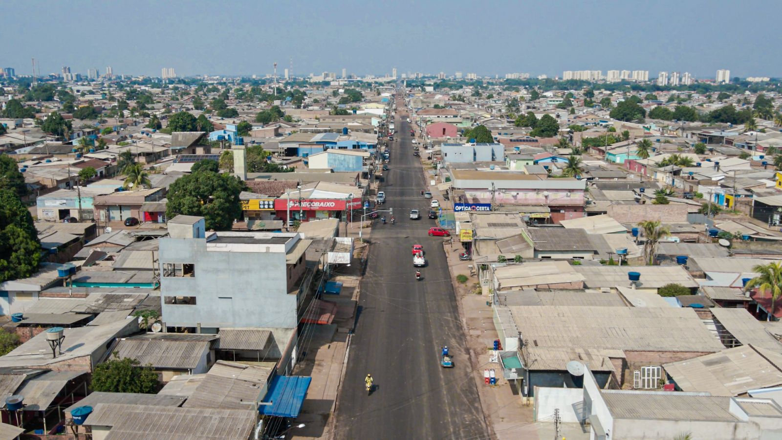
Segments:
[[[114,351],[121,358],[138,359],[156,368],[193,369],[210,349],[206,341],[175,341],[127,337],[117,341]]]

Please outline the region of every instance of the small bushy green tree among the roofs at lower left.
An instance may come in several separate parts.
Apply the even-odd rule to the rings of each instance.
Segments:
[[[154,394],[158,388],[157,373],[152,366],[140,366],[137,359],[113,358],[99,363],[92,372],[92,391]]]

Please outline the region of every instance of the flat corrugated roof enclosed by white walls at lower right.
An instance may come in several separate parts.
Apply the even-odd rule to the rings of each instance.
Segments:
[[[739,421],[728,410],[727,397],[614,390],[601,394],[615,419]]]

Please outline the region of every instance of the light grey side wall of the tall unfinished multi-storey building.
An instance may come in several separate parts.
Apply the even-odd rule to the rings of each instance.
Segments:
[[[282,252],[206,251],[206,240],[160,240],[160,265],[195,265],[192,277],[163,277],[167,326],[296,326],[296,295],[288,294]],[[303,265],[302,265],[303,266]],[[195,305],[165,304],[167,296],[194,296]]]

